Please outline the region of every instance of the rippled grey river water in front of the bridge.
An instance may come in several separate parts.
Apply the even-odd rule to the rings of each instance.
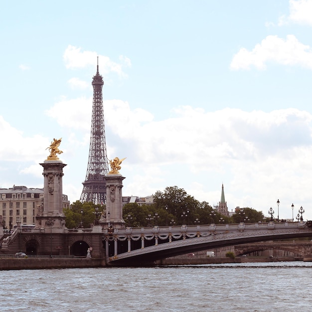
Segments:
[[[0,271],[1,311],[312,311],[312,262]]]

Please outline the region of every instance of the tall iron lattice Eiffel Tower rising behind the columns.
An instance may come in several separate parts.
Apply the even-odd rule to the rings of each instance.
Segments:
[[[97,72],[92,80],[93,106],[88,167],[80,196],[81,202],[91,201],[94,204],[106,203],[104,176],[109,171],[103,113],[103,85],[103,77],[99,74],[99,64],[97,64]]]

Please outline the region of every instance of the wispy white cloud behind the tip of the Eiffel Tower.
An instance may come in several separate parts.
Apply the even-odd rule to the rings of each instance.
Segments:
[[[131,61],[125,56],[120,56],[120,60],[123,64],[119,64],[112,61],[108,56],[98,55],[98,53],[94,51],[82,51],[81,48],[72,45],[68,45],[63,55],[65,66],[69,69],[84,68],[90,65],[95,67],[97,65],[97,57],[99,57],[101,74],[104,76],[114,72],[118,74],[120,78],[128,77],[123,71],[123,67],[131,66]]]

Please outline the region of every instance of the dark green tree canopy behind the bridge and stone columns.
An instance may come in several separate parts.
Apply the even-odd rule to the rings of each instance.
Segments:
[[[168,186],[164,191],[157,190],[154,203],[142,205],[128,203],[123,207],[123,219],[126,226],[168,226],[168,225],[200,225],[219,223],[256,223],[268,221],[261,211],[246,207],[233,216],[228,217],[218,213],[207,201],[198,201],[188,195],[183,188]],[[96,223],[96,216],[103,213],[105,206],[92,202],[81,203],[79,200],[64,208],[67,228],[83,226],[89,228]]]

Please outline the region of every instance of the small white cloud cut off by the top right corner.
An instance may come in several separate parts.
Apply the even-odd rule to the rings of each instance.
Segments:
[[[312,25],[312,0],[290,0],[289,16],[281,16],[279,25],[285,25],[289,22],[298,24]]]

